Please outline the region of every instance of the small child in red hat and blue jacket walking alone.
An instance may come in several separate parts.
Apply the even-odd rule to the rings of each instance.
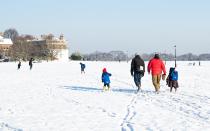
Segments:
[[[102,79],[102,82],[104,83],[104,86],[103,86],[103,91],[106,91],[106,90],[109,90],[110,89],[110,76],[112,74],[108,73],[106,68],[103,69],[103,73],[102,73],[102,76],[101,76],[101,79]],[[106,89],[106,87],[108,87],[108,89]]]

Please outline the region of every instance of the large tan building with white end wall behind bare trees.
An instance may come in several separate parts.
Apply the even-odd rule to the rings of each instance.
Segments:
[[[59,38],[54,37],[52,34],[41,35],[41,38],[32,40],[32,44],[45,45],[59,61],[69,60],[67,41],[64,39],[63,34]]]

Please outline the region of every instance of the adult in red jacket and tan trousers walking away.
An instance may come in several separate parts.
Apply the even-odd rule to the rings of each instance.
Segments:
[[[159,93],[161,74],[163,72],[163,74],[166,75],[165,65],[160,59],[159,54],[155,54],[154,58],[149,61],[147,70],[149,74],[150,71],[152,71],[152,83],[155,87],[155,91]]]

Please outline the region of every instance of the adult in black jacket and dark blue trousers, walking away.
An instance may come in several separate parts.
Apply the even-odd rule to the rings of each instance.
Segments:
[[[138,87],[138,90],[141,88],[141,78],[144,76],[145,64],[140,55],[135,55],[131,62],[131,75],[134,77],[134,82]]]

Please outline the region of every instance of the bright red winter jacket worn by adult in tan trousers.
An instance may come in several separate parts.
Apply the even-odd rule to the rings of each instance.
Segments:
[[[149,73],[150,70],[152,70],[152,75],[160,75],[162,74],[162,71],[166,74],[165,65],[161,59],[151,59],[148,63],[147,70]]]

